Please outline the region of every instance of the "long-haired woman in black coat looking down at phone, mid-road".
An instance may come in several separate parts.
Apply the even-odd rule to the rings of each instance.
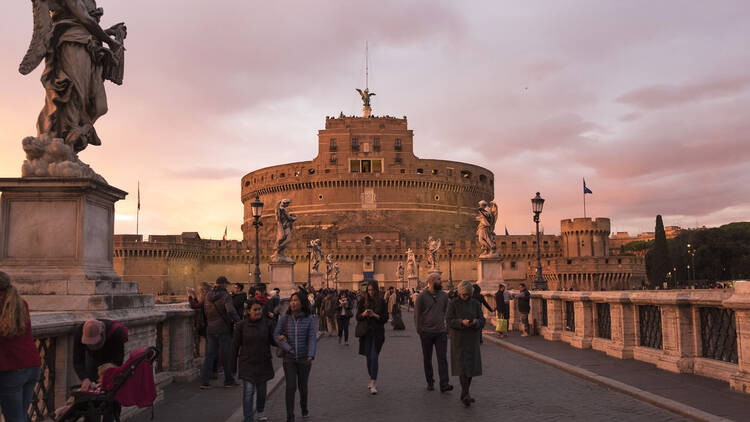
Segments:
[[[357,304],[357,328],[359,337],[359,354],[367,357],[367,373],[370,383],[367,388],[370,394],[378,394],[375,382],[378,379],[378,356],[385,343],[385,323],[388,322],[388,311],[385,300],[380,296],[378,282],[367,283],[367,291]]]

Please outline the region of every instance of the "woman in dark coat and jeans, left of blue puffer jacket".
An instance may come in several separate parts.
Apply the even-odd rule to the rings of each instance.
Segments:
[[[244,422],[266,421],[266,383],[273,378],[271,346],[273,339],[272,320],[263,315],[263,306],[254,299],[248,301],[247,318],[234,328],[232,356],[237,356],[237,372],[242,380],[242,413]],[[258,417],[253,419],[253,396],[257,394]]]

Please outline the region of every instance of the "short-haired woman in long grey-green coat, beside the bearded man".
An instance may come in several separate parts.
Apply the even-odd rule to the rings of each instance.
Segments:
[[[482,375],[479,337],[484,327],[482,305],[472,299],[468,281],[458,286],[458,297],[448,304],[445,320],[450,328],[451,372],[461,381],[461,402],[469,407],[474,399],[469,394],[471,379]]]

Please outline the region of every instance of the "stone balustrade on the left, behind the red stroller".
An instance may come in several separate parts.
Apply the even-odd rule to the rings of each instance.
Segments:
[[[194,333],[195,315],[186,303],[107,312],[33,313],[32,331],[42,357],[42,377],[34,389],[31,420],[49,417],[65,404],[71,387],[80,384],[73,369],[73,336],[85,320],[113,319],[127,326],[126,359],[134,349],[159,348],[162,353],[154,369],[157,384],[164,386],[198,376],[204,342]],[[127,414],[123,412],[124,417]]]

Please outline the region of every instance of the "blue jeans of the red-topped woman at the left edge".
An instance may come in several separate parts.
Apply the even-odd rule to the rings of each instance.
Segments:
[[[5,422],[26,422],[34,386],[39,381],[40,368],[0,372],[0,407]]]

